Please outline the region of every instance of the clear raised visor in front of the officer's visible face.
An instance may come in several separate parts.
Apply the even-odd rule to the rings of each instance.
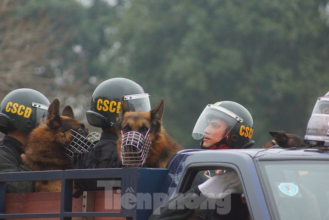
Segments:
[[[192,137],[199,140],[207,136],[220,141],[239,122],[243,122],[243,119],[235,113],[221,106],[208,104],[194,126]]]

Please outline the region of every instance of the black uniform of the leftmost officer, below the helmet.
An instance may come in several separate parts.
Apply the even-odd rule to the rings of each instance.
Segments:
[[[0,173],[31,171],[20,159],[24,146],[16,139],[4,136],[0,141]],[[7,182],[6,193],[30,193],[34,191],[33,181]]]

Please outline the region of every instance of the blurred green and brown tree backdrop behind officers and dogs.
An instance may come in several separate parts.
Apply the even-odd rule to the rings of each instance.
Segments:
[[[329,89],[328,0],[2,0],[0,98],[29,87],[85,121],[93,89],[127,77],[165,98],[186,148],[208,103],[232,100],[269,130],[303,136]]]

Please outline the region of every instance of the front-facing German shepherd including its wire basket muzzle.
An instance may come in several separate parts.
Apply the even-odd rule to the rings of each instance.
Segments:
[[[164,110],[164,98],[149,112],[132,112],[121,100],[116,127],[119,136],[117,150],[123,165],[165,168],[171,157],[183,149],[163,127]],[[139,163],[140,159],[142,163]]]

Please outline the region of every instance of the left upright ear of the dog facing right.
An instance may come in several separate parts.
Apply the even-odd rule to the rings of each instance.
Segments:
[[[60,116],[59,116],[59,100],[58,99],[55,99],[54,101],[52,101],[48,107],[46,124],[52,133],[55,133],[62,126]]]

